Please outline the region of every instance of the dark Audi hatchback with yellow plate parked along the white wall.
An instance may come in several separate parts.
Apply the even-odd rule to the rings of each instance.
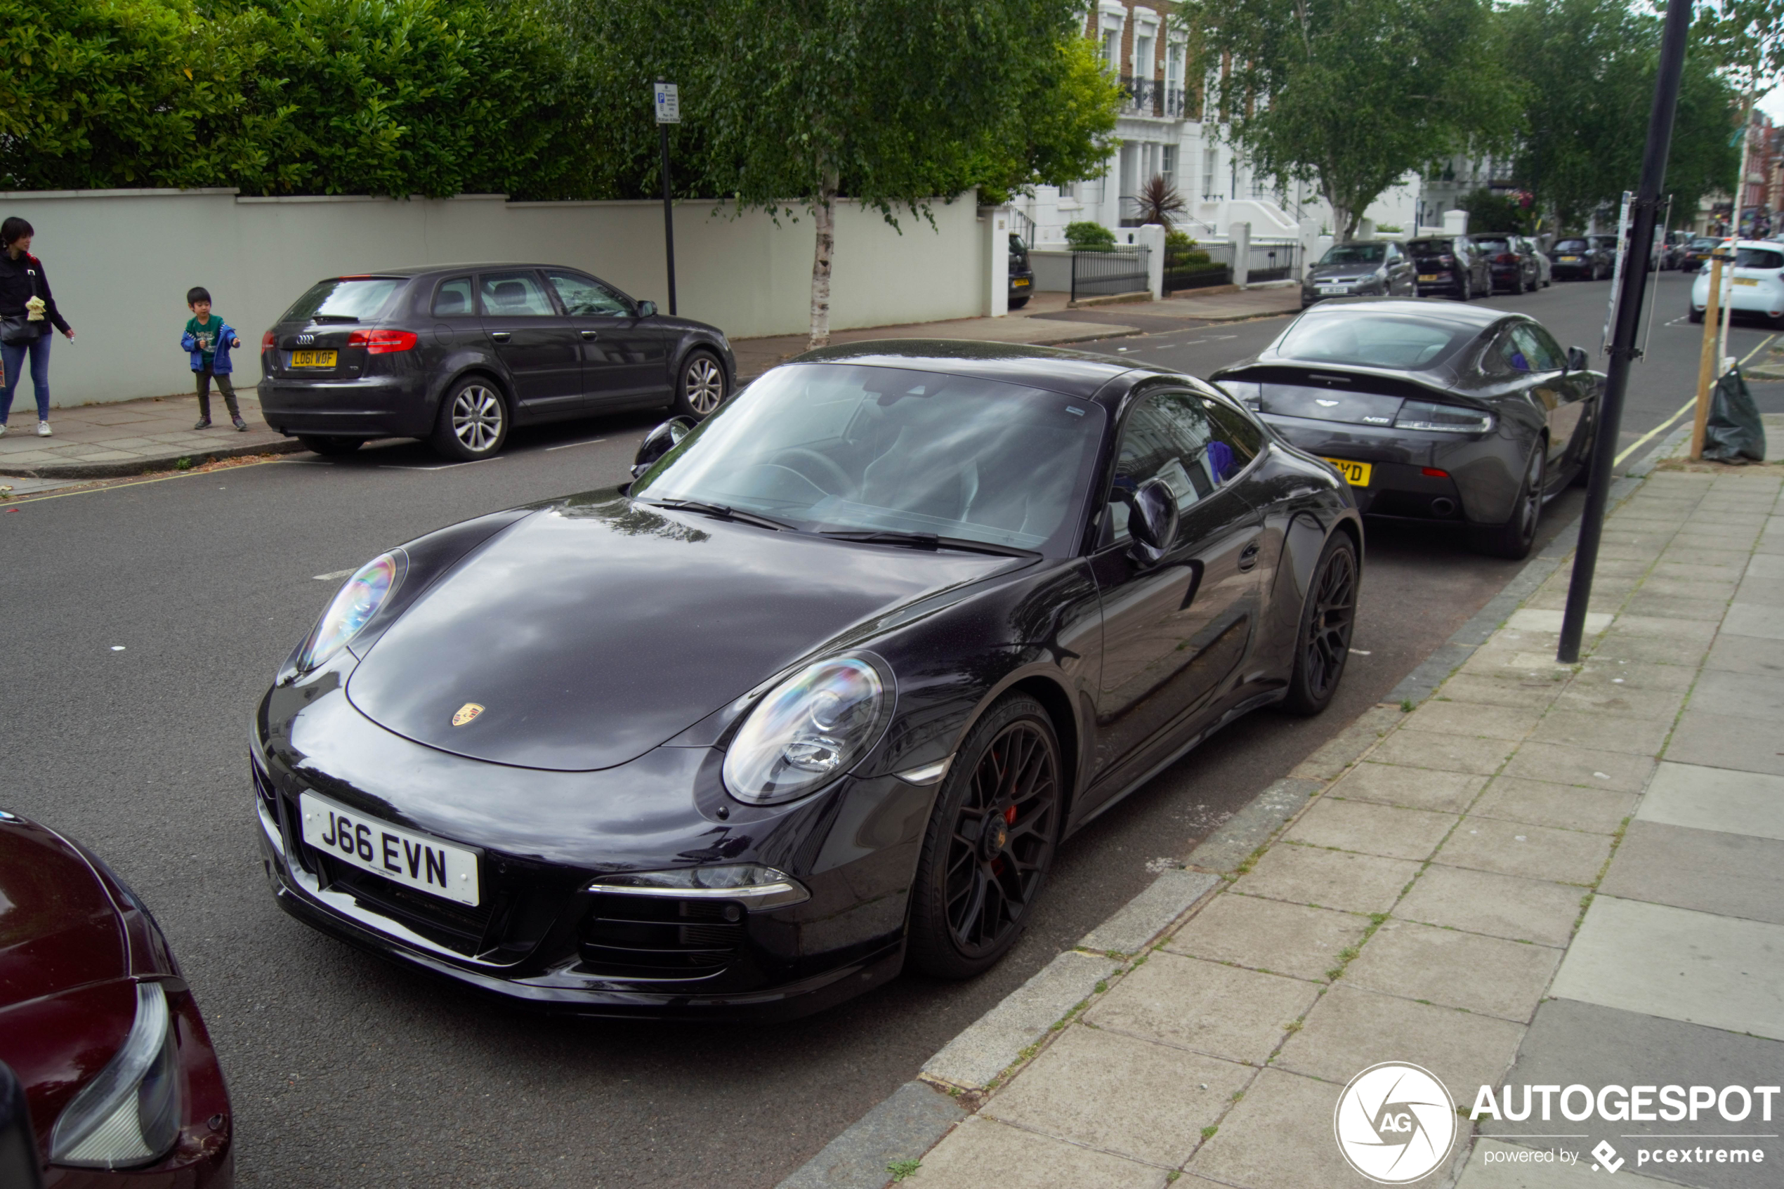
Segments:
[[[667,405],[708,415],[724,332],[549,264],[457,264],[316,282],[260,339],[266,424],[319,455],[376,437],[489,458],[508,428]]]

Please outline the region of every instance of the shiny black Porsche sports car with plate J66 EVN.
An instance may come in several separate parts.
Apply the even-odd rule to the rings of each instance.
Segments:
[[[969,977],[1072,831],[1349,654],[1350,490],[1185,374],[830,348],[639,474],[341,588],[255,715],[285,911],[585,1014]]]

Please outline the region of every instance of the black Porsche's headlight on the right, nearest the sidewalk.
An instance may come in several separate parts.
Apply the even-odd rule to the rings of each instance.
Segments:
[[[842,775],[878,740],[885,697],[880,672],[863,660],[808,665],[749,711],[724,754],[724,788],[772,806]]]

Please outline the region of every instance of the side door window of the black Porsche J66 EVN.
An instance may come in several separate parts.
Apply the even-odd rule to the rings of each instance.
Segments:
[[[1235,456],[1233,444],[1208,419],[1206,406],[1218,405],[1193,392],[1158,392],[1145,398],[1122,430],[1110,515],[1115,538],[1127,535],[1126,496],[1147,480],[1163,480],[1177,497],[1177,510],[1213,496],[1256,455]]]

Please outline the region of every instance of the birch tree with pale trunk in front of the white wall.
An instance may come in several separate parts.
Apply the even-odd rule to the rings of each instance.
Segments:
[[[1076,0],[730,0],[710,12],[708,178],[739,209],[812,217],[814,348],[830,342],[837,200],[899,226],[987,180],[1081,20]]]

